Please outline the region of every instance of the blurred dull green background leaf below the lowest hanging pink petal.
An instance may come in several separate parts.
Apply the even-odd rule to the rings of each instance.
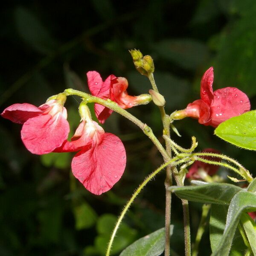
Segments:
[[[92,227],[98,217],[94,209],[87,204],[87,202],[83,202],[79,206],[76,206],[74,209],[74,215],[77,230]]]

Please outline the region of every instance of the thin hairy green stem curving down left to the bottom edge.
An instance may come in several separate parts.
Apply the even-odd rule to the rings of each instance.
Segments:
[[[175,162],[175,160],[178,160],[179,158],[178,157],[174,157],[172,158],[172,160],[170,160],[169,162],[167,163],[164,163],[163,165],[161,165],[159,168],[157,168],[154,172],[152,172],[148,177],[145,178],[145,180],[143,181],[143,183],[140,184],[140,186],[136,189],[136,191],[134,192],[134,194],[132,195],[131,199],[128,201],[128,203],[125,205],[124,209],[122,210],[122,213],[121,215],[119,216],[117,222],[116,222],[116,226],[113,230],[113,233],[111,235],[111,239],[109,241],[109,244],[108,244],[108,249],[107,249],[107,253],[106,253],[106,256],[109,256],[110,255],[110,251],[111,251],[111,247],[112,247],[112,244],[113,244],[113,241],[114,241],[114,237],[116,236],[116,231],[118,230],[121,222],[122,222],[122,219],[124,218],[125,216],[125,213],[128,211],[129,207],[131,206],[132,202],[134,201],[134,199],[137,197],[137,195],[139,195],[140,191],[146,186],[146,184],[155,176],[157,175],[157,173],[159,173],[163,168],[165,168],[166,166],[169,166],[171,163]],[[184,160],[182,160],[184,161]],[[176,164],[180,164],[180,163],[183,163],[180,161],[177,161],[176,163],[174,163],[175,165]]]

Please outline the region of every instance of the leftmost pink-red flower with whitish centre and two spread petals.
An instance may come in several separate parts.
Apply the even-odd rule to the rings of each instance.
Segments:
[[[47,154],[67,140],[70,131],[67,110],[61,100],[49,100],[36,107],[23,103],[6,108],[1,116],[12,122],[23,124],[21,139],[33,154]]]

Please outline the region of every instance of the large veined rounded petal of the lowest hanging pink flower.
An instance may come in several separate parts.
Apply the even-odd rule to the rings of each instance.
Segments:
[[[99,144],[81,150],[72,160],[73,175],[95,195],[101,195],[121,178],[126,163],[125,148],[114,134],[105,133]]]

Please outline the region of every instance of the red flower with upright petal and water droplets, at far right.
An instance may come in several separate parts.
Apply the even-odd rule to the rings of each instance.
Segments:
[[[225,87],[212,91],[213,67],[210,67],[201,80],[201,99],[189,103],[185,115],[198,118],[203,125],[217,127],[233,116],[250,111],[250,101],[245,93],[236,87]]]

